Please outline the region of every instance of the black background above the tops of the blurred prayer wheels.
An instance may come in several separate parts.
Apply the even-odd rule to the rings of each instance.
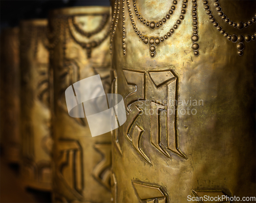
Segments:
[[[74,6],[110,6],[109,0],[0,0],[1,29],[18,26],[19,21],[47,18],[52,9]]]

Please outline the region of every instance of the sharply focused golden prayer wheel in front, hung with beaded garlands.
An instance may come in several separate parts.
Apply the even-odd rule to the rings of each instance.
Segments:
[[[255,197],[255,2],[111,2],[112,201]]]

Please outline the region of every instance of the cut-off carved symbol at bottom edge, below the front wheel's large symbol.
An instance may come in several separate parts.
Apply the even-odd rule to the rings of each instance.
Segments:
[[[145,203],[166,203],[167,195],[160,186],[152,184],[142,184],[133,181],[134,188],[141,199]]]

